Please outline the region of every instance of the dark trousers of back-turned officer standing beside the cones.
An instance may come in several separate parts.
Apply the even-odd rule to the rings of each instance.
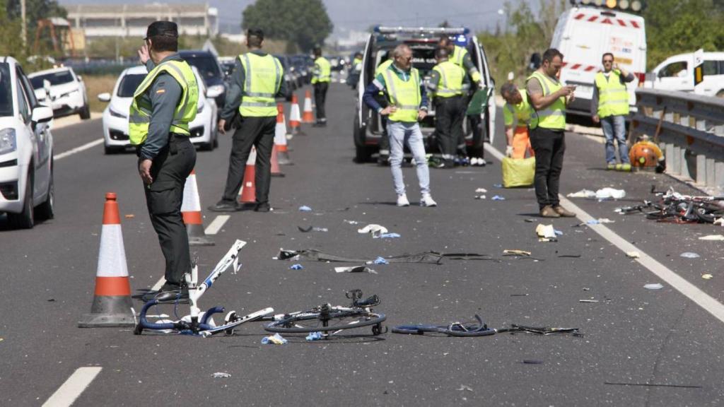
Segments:
[[[246,160],[251,154],[251,147],[256,147],[256,166],[254,182],[256,183],[256,202],[269,202],[269,182],[271,182],[271,148],[274,148],[274,127],[277,117],[243,117],[240,125],[232,136],[231,156],[229,157],[229,173],[224,188],[224,201],[236,202],[241,184],[244,182]]]

